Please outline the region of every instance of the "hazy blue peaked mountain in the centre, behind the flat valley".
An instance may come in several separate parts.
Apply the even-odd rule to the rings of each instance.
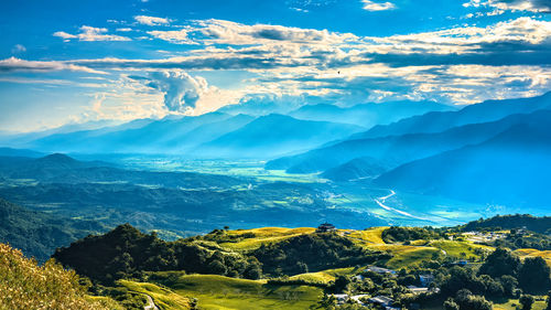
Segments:
[[[307,150],[363,129],[355,125],[271,114],[199,146],[194,153],[217,158],[273,158]]]

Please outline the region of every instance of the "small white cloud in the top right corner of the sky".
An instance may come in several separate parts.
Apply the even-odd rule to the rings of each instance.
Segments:
[[[549,0],[469,0],[463,4],[466,8],[495,8],[498,11],[528,11],[551,13]],[[493,11],[495,12],[495,11]]]

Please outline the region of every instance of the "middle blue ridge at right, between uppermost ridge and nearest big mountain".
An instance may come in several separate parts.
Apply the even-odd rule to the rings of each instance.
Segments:
[[[505,103],[506,109],[518,110],[518,104],[514,104],[515,108],[510,109],[509,101]],[[532,114],[518,114],[518,115],[507,115],[503,119],[489,121],[489,122],[474,122],[466,124],[458,127],[452,127],[444,131],[439,132],[418,132],[418,133],[406,133],[396,136],[382,136],[379,137],[375,135],[368,135],[374,128],[364,133],[354,135],[347,140],[343,140],[328,147],[314,149],[309,152],[276,159],[269,161],[266,164],[267,169],[283,169],[292,173],[312,173],[325,171],[328,169],[334,169],[341,164],[346,164],[348,161],[357,158],[371,158],[374,161],[371,163],[381,167],[392,167],[400,163],[404,163],[419,158],[432,156],[442,151],[452,150],[456,148],[464,147],[466,145],[479,143],[487,139],[490,139],[495,135],[506,130],[515,124],[525,124],[531,121],[544,121],[547,118],[547,113],[540,107],[548,107],[551,105],[551,96],[544,95],[538,97],[537,100],[523,100],[522,105],[525,110],[533,111]],[[495,104],[491,106],[494,109],[501,109],[500,105]],[[471,108],[471,107],[468,107]],[[473,107],[474,108],[474,107]],[[473,109],[471,108],[471,109]],[[466,109],[466,108],[465,108]],[[463,111],[456,113],[443,113],[446,118],[457,118],[454,114],[461,114]],[[500,111],[503,114],[503,111]],[[465,113],[463,113],[465,114]],[[494,113],[494,115],[497,113]],[[540,117],[538,117],[538,114]],[[424,119],[421,121],[421,127],[424,128],[425,124],[430,124],[432,114],[426,114],[420,117],[412,117],[406,120],[401,120],[389,125],[387,128],[392,128],[392,126],[400,125],[402,122],[408,122],[419,119]],[[480,119],[480,118],[478,118]],[[439,125],[440,126],[440,125]],[[419,131],[419,130],[412,130]],[[422,131],[422,130],[421,130]],[[347,165],[346,169],[349,169]],[[332,174],[335,175],[336,171],[333,170]],[[366,175],[363,175],[366,177]],[[372,177],[372,175],[371,175]],[[343,178],[339,178],[343,179]]]

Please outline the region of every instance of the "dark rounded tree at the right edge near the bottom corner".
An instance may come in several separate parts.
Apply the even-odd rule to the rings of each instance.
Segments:
[[[529,292],[547,291],[550,287],[551,268],[541,257],[528,257],[519,270],[520,288]]]

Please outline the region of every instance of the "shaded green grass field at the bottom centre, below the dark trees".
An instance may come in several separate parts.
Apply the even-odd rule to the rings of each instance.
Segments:
[[[168,274],[166,274],[168,275]],[[162,278],[163,272],[156,272]],[[169,286],[181,297],[196,298],[201,309],[307,309],[320,300],[322,289],[307,286],[272,286],[266,280],[235,279],[214,275],[172,272]],[[173,309],[173,308],[168,308]]]

